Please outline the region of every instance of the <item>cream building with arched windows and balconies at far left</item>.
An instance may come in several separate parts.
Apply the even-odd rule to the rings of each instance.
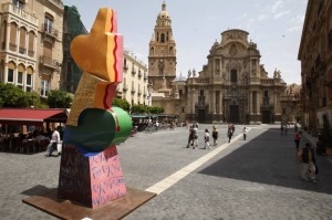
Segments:
[[[60,82],[62,1],[4,0],[0,10],[0,82],[46,97]]]

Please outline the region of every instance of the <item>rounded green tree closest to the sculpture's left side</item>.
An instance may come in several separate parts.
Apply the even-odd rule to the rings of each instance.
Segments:
[[[48,94],[48,105],[51,108],[70,108],[72,99],[71,94],[63,90],[50,91]]]

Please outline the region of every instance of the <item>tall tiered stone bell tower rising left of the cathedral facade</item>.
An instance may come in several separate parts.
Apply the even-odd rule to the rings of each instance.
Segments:
[[[153,90],[170,88],[172,81],[176,77],[176,44],[165,1],[148,45],[148,80]]]

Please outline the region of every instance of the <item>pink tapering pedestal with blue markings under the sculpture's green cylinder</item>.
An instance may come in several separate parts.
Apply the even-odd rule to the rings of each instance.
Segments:
[[[62,149],[58,196],[92,209],[126,196],[116,146],[84,157],[73,145]]]

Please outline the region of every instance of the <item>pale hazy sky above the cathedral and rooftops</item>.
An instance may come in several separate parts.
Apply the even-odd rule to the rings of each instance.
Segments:
[[[124,48],[148,64],[148,43],[163,0],[63,0],[75,6],[90,31],[100,8],[117,11]],[[165,0],[176,42],[177,76],[200,72],[221,32],[241,29],[257,43],[268,76],[281,71],[287,84],[301,84],[298,52],[308,0]]]

